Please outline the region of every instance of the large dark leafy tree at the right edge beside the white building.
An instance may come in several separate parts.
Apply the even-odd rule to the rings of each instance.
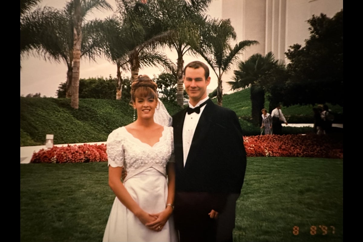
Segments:
[[[329,18],[307,20],[310,38],[285,53],[290,78],[282,91],[284,105],[331,103],[343,106],[343,10]]]

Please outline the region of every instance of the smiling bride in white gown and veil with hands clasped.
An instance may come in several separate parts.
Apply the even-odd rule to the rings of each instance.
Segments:
[[[156,83],[139,75],[131,85],[135,122],[112,131],[107,139],[109,185],[116,195],[103,242],[176,242],[175,170],[170,115],[158,101]],[[162,109],[160,110],[160,107]],[[154,121],[155,110],[164,112]],[[160,123],[160,122],[159,122]],[[127,176],[121,182],[122,169]]]

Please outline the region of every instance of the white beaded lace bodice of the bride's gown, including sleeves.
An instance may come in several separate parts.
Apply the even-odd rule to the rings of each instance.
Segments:
[[[152,147],[132,136],[125,127],[117,128],[107,138],[106,152],[108,165],[125,167],[125,181],[150,167],[166,176],[167,163],[175,162],[173,128],[164,126],[162,136]]]

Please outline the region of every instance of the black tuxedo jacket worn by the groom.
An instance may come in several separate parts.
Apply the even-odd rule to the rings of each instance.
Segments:
[[[176,193],[240,193],[246,170],[246,152],[236,113],[208,99],[184,167],[182,134],[185,115],[186,109],[172,117]]]

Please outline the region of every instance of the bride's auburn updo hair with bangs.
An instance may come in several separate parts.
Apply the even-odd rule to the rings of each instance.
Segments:
[[[158,92],[156,91],[155,82],[153,82],[148,75],[139,75],[137,80],[131,83],[131,103],[136,102],[136,97],[147,98],[152,97],[158,102]]]

